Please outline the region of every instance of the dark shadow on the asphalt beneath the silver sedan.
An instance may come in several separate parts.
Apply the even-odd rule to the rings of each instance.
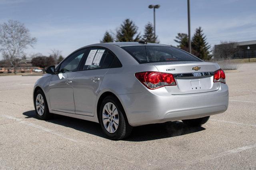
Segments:
[[[26,116],[25,119],[36,119],[36,113],[34,110],[26,111],[23,113],[23,115]],[[94,134],[102,138],[106,138],[106,136],[102,132],[100,124],[95,122],[85,121],[82,119],[76,119],[72,117],[66,117],[62,115],[54,115],[54,117],[50,120],[47,120],[47,122],[73,128],[82,132]],[[125,138],[124,140],[134,142],[156,140],[161,138],[181,136],[184,134],[190,134],[202,130],[205,130],[205,128],[189,127],[180,121],[166,122],[134,127],[132,130],[132,134],[128,138]]]

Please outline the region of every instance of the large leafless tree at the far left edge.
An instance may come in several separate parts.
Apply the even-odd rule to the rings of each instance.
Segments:
[[[19,21],[8,20],[0,24],[0,51],[10,61],[16,73],[18,60],[24,56],[24,49],[36,43],[29,30]]]

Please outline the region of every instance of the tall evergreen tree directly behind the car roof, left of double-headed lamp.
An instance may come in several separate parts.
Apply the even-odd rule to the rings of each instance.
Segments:
[[[138,42],[140,34],[137,34],[138,27],[130,19],[124,20],[116,32],[116,42]]]

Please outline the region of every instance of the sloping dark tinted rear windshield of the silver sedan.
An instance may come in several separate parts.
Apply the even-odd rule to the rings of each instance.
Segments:
[[[141,63],[202,61],[189,53],[171,46],[135,45],[121,47]]]

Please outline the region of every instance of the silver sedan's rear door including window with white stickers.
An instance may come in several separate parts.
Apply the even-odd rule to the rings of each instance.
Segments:
[[[74,78],[74,103],[76,114],[94,115],[95,101],[104,75],[116,56],[103,47],[91,47],[84,57],[82,70]]]

